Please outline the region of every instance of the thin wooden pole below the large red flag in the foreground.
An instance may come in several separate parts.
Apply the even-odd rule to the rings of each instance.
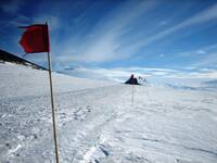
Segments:
[[[48,52],[48,64],[49,64],[49,78],[50,78],[50,91],[51,91],[51,106],[52,106],[52,121],[53,121],[53,138],[55,145],[55,160],[59,162],[59,150],[58,150],[58,138],[56,138],[56,127],[55,127],[55,108],[54,108],[54,99],[53,99],[53,85],[52,85],[52,70],[51,70],[51,55]]]

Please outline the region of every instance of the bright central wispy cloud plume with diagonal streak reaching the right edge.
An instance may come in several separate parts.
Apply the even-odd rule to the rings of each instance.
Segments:
[[[72,61],[81,62],[108,62],[113,60],[126,60],[133,58],[136,52],[148,45],[154,45],[156,41],[171,35],[186,27],[205,23],[207,21],[217,18],[217,4],[205,9],[204,11],[196,13],[195,15],[168,27],[164,30],[159,30],[155,35],[144,36],[145,39],[130,40],[129,34],[133,32],[133,24],[146,12],[156,10],[159,2],[156,1],[140,1],[140,3],[133,3],[132,1],[126,2],[122,7],[114,10],[106,15],[89,32],[89,37],[82,42],[84,47],[78,50],[78,54],[74,53]],[[125,36],[128,37],[125,37]],[[142,34],[141,34],[142,35]],[[140,37],[141,38],[141,37]],[[71,49],[71,48],[69,48]],[[77,50],[75,50],[77,51]],[[202,50],[197,51],[202,52]],[[203,51],[205,52],[205,50]],[[65,50],[71,58],[71,50]],[[163,57],[161,54],[159,57]]]

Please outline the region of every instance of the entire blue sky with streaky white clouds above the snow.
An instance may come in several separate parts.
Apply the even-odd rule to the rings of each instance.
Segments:
[[[0,2],[0,48],[18,55],[20,25],[48,21],[53,70],[119,80],[217,78],[215,0],[12,0]],[[46,65],[46,55],[27,60]]]

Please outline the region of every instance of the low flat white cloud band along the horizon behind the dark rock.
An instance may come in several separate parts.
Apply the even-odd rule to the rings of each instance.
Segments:
[[[212,80],[217,78],[217,72],[212,68],[199,68],[189,71],[187,70],[170,70],[170,68],[148,68],[148,67],[116,67],[116,68],[87,68],[82,66],[75,66],[68,68],[65,73],[85,77],[85,78],[94,78],[103,80],[114,80],[114,82],[125,82],[129,78],[131,74],[135,74],[136,77],[141,76],[148,78],[148,80],[153,80],[156,78],[164,79],[176,79],[176,80]]]

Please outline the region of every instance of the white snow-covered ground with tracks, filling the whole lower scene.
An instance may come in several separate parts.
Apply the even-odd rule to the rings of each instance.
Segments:
[[[0,162],[54,161],[48,72],[0,64]],[[216,163],[216,89],[53,73],[61,163]]]

